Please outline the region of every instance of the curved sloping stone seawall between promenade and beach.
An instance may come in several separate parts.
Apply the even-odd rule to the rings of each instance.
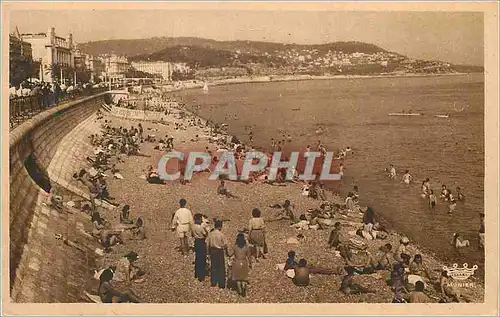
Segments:
[[[75,292],[81,287],[80,279],[71,275],[82,273],[78,272],[83,267],[78,262],[88,264],[88,254],[71,254],[75,251],[56,240],[54,230],[69,235],[83,223],[78,221],[80,215],[61,214],[42,204],[46,190],[54,185],[43,175],[47,175],[45,171],[63,137],[95,113],[106,98],[107,93],[102,93],[49,109],[10,132],[9,266],[15,302],[78,301],[77,293],[64,285],[75,284]]]

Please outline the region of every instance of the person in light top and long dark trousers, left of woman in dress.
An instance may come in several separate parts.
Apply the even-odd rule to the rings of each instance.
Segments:
[[[212,287],[226,288],[226,263],[224,255],[227,254],[227,239],[221,232],[222,221],[215,221],[215,228],[207,236],[207,249],[210,253],[210,284]]]

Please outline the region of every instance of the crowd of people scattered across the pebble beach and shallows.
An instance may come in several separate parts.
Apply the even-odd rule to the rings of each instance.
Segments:
[[[44,86],[45,87],[45,86]],[[24,88],[23,88],[24,89]],[[28,88],[26,88],[28,89]],[[34,89],[34,87],[33,87]],[[48,87],[45,87],[49,91]],[[54,89],[54,88],[51,88]],[[59,91],[59,88],[55,88]],[[67,90],[66,90],[67,91]],[[147,109],[162,112],[174,117],[173,100],[158,93],[146,94]],[[125,102],[125,101],[124,101]],[[248,131],[248,144],[243,144],[236,136],[227,133],[227,125],[204,121],[179,107],[175,121],[175,130],[187,130],[192,126],[205,128],[209,132],[209,140],[214,144],[213,149],[205,149],[216,162],[218,155],[225,151],[232,151],[243,157],[247,151],[254,149],[251,129]],[[147,130],[141,123],[131,127],[117,126],[113,119],[98,112],[102,131],[91,135],[89,142],[95,147],[94,156],[87,157],[88,168],[75,171],[74,179],[88,188],[90,201],[80,206],[82,212],[88,214],[92,223],[92,232],[89,233],[101,245],[102,254],[113,252],[118,244],[127,244],[128,240],[144,240],[150,238],[146,234],[146,226],[141,217],[134,219],[127,204],[118,204],[110,195],[107,177],[123,179],[118,163],[125,162],[129,156],[147,156],[141,152],[141,144],[153,143],[157,151],[173,151],[175,140],[172,136],[159,136],[154,130]],[[196,141],[198,135],[193,137]],[[291,142],[291,136],[284,134],[271,139],[269,152],[281,151],[285,143]],[[307,146],[306,152],[318,151],[325,155],[326,146],[320,141],[314,148]],[[358,152],[358,151],[356,151]],[[349,156],[354,155],[353,149],[346,147],[335,153],[336,159],[341,162],[338,171],[344,174],[344,163]],[[181,171],[182,172],[182,171]],[[380,217],[371,207],[362,207],[359,203],[361,195],[359,188],[354,186],[345,198],[338,193],[326,190],[325,184],[319,180],[301,181],[298,179],[300,171],[287,172],[281,169],[276,180],[266,177],[266,170],[254,173],[248,183],[262,183],[263,186],[301,186],[302,195],[315,201],[316,208],[297,210],[293,199],[286,199],[269,206],[275,210],[271,217],[265,218],[257,207],[249,208],[248,225],[240,228],[235,236],[228,236],[224,232],[224,223],[230,219],[210,219],[202,213],[193,212],[189,201],[180,197],[178,206],[172,206],[171,221],[165,224],[165,230],[171,230],[179,241],[178,261],[191,262],[186,265],[186,274],[203,283],[208,279],[210,285],[219,289],[231,289],[241,297],[247,297],[249,292],[249,276],[251,270],[261,261],[267,260],[267,255],[273,250],[268,248],[267,230],[271,222],[281,222],[283,226],[290,226],[298,232],[292,237],[291,244],[303,238],[304,230],[325,230],[328,239],[317,241],[316,248],[333,251],[341,257],[343,265],[331,267],[316,267],[310,265],[307,259],[300,257],[296,250],[290,249],[283,254],[282,263],[276,264],[276,269],[283,272],[283,278],[290,279],[292,285],[307,288],[311,284],[311,275],[329,275],[340,281],[339,292],[346,295],[362,293],[376,293],[381,290],[371,289],[357,276],[371,276],[386,274],[387,290],[393,293],[394,303],[429,303],[429,302],[462,302],[471,301],[467,294],[450,286],[450,275],[440,269],[437,273],[425,263],[420,253],[411,253],[411,241],[406,236],[400,236],[398,243],[390,243],[391,233],[384,227]],[[394,165],[385,170],[389,179],[397,179]],[[181,173],[182,174],[182,173]],[[145,186],[165,185],[159,177],[158,170],[148,166],[144,170]],[[222,199],[238,199],[238,193],[227,188],[227,179],[219,179],[214,195]],[[188,182],[180,180],[180,182]],[[340,181],[341,182],[341,181]],[[404,184],[413,182],[409,171],[402,177]],[[265,184],[265,185],[264,185]],[[453,213],[456,204],[465,199],[460,188],[456,194],[442,186],[440,200],[434,194],[430,180],[422,182],[421,196],[429,202],[429,208],[435,208],[441,201],[449,206]],[[50,201],[58,209],[63,208],[60,198],[51,193]],[[119,223],[111,224],[99,213],[99,206],[108,204],[120,207]],[[479,232],[480,246],[484,246],[484,214],[481,215],[482,226]],[[353,228],[353,232],[346,232],[346,228]],[[454,247],[469,247],[470,241],[464,239],[460,233],[453,237]],[[322,244],[324,246],[322,246]],[[169,247],[169,246],[166,246]],[[147,272],[137,265],[140,258],[135,251],[127,252],[118,262],[110,267],[96,271],[95,278],[99,280],[97,293],[100,301],[105,303],[142,302],[140,296],[130,289],[132,283],[147,282]],[[115,282],[124,282],[128,286],[119,290]],[[152,281],[151,281],[152,282]],[[387,291],[386,290],[386,291]]]

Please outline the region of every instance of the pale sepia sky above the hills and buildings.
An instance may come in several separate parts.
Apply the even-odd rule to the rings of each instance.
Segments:
[[[361,41],[411,58],[483,66],[482,12],[256,10],[10,11],[10,31],[73,33],[77,43],[201,37],[322,44]]]

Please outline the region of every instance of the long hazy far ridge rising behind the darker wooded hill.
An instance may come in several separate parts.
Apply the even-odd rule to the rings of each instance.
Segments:
[[[229,52],[241,51],[248,54],[272,53],[281,50],[318,50],[319,53],[325,53],[328,50],[342,51],[344,53],[376,53],[385,52],[382,48],[373,44],[362,42],[335,42],[318,45],[301,44],[281,44],[271,42],[255,41],[216,41],[195,37],[153,37],[149,39],[133,40],[104,40],[79,44],[82,52],[99,55],[105,53],[114,53],[125,56],[145,55],[158,52],[160,50],[177,46],[196,46],[213,50],[223,50]]]

